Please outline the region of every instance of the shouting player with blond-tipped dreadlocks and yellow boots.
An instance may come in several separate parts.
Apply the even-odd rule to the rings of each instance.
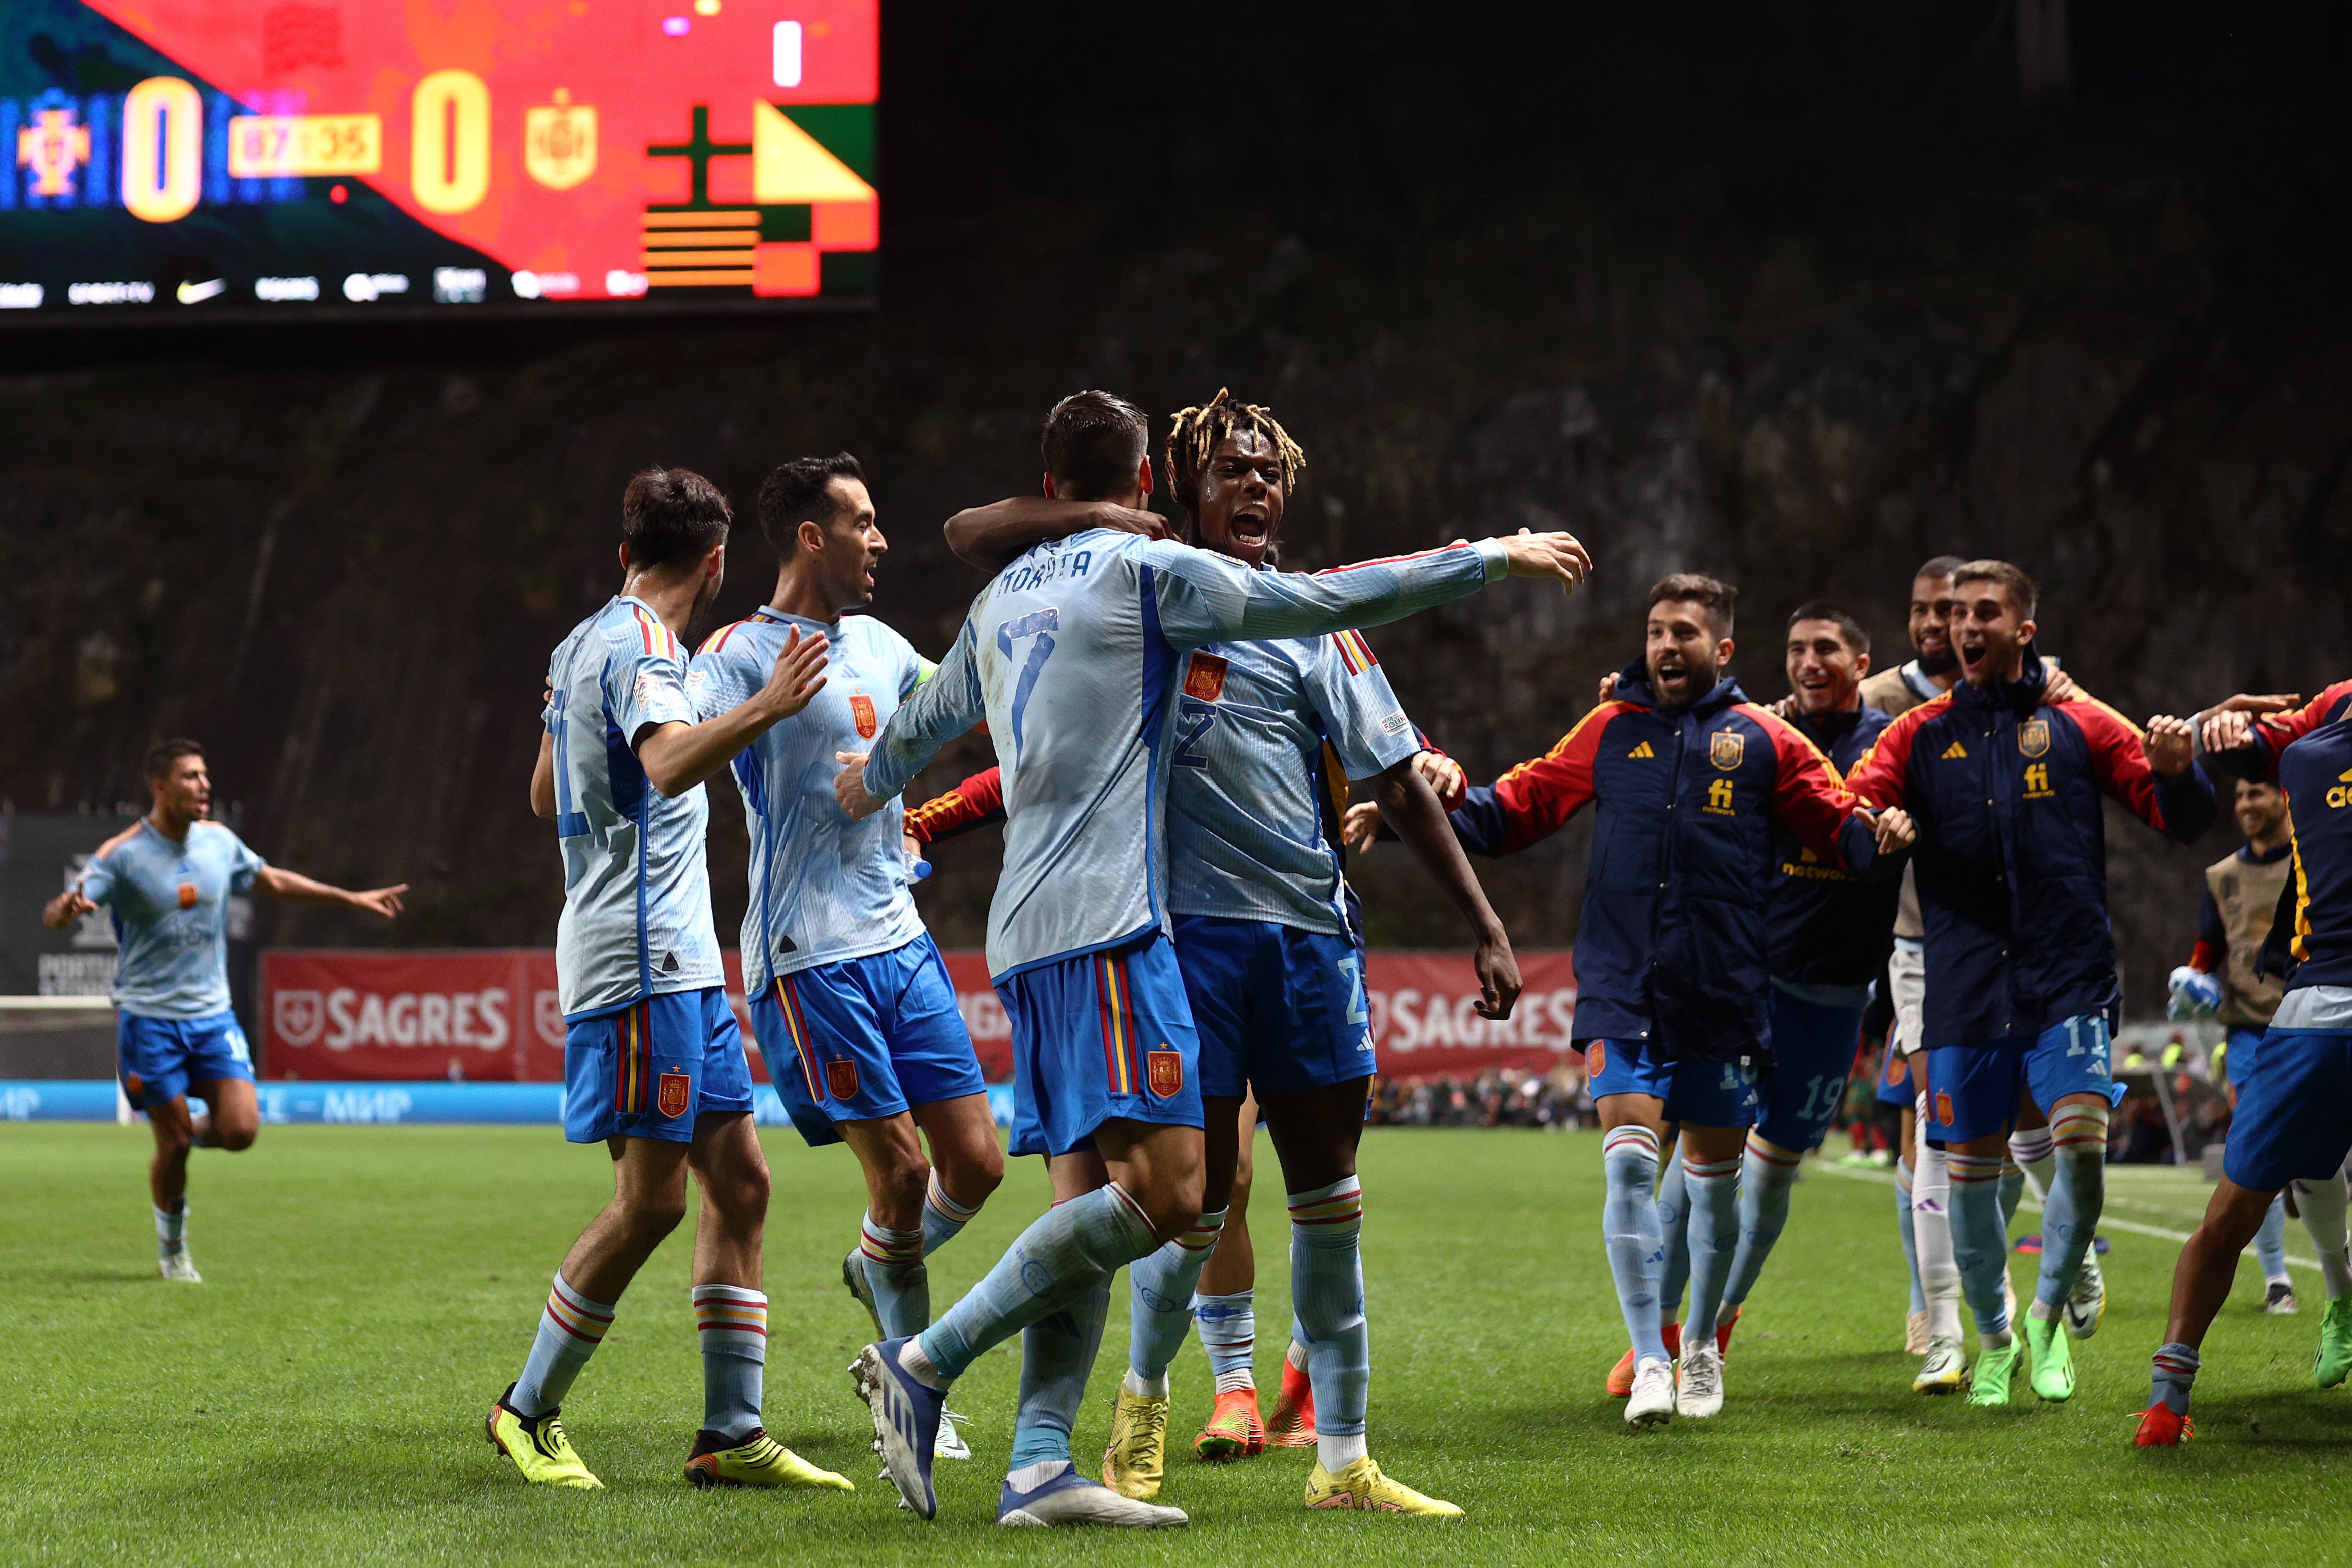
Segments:
[[[1303,465],[1305,454],[1258,404],[1218,390],[1183,409],[1162,451],[1169,494],[1185,510],[1178,536],[1265,569]],[[948,543],[967,562],[997,569],[1040,538],[1103,527],[1096,510],[1004,501],[950,520]],[[1444,806],[1414,769],[1418,736],[1362,635],[1207,644],[1176,668],[1174,682],[1176,712],[1164,743],[1169,912],[1200,1030],[1207,1194],[1190,1232],[1131,1267],[1129,1371],[1103,1481],[1129,1497],[1160,1493],[1167,1373],[1195,1309],[1218,1368],[1218,1413],[1202,1436],[1230,1439],[1195,1450],[1235,1455],[1263,1446],[1249,1349],[1232,1345],[1235,1309],[1247,1309],[1249,1286],[1195,1307],[1202,1265],[1230,1220],[1242,1107],[1254,1091],[1291,1208],[1291,1333],[1305,1349],[1317,1448],[1305,1502],[1461,1514],[1381,1474],[1364,1441],[1371,1340],[1355,1154],[1374,1051],[1343,879],[1343,778],[1374,780],[1383,818],[1470,922],[1484,990],[1479,1011],[1489,1018],[1508,1016],[1519,992],[1510,938],[1470,875]]]

